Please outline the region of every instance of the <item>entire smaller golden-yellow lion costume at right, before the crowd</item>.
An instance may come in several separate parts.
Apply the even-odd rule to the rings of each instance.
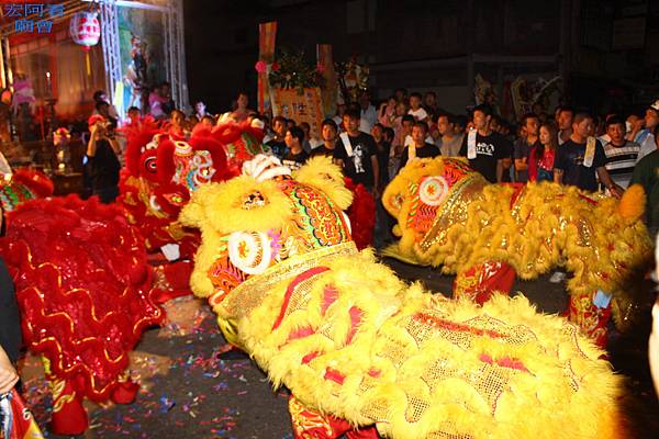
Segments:
[[[618,202],[556,183],[490,184],[463,161],[438,157],[409,164],[382,203],[401,237],[386,254],[457,273],[455,296],[483,303],[483,278],[502,268],[514,280],[565,266],[573,273],[566,315],[601,347],[612,312],[618,327],[628,324],[629,279],[651,260],[640,187]]]

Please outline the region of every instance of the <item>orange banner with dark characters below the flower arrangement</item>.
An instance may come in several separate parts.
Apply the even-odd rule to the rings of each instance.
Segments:
[[[302,94],[298,89],[271,89],[270,99],[275,116],[292,119],[298,125],[306,122],[311,127],[311,137],[321,138],[323,105],[320,89],[305,88]]]

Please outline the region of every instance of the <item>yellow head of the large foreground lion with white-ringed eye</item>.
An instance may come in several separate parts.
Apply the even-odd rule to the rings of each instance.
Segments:
[[[257,156],[243,175],[203,184],[181,212],[203,244],[191,278],[193,291],[228,293],[250,275],[300,255],[351,240],[343,212],[351,203],[338,167],[312,158],[294,175],[272,156]]]

